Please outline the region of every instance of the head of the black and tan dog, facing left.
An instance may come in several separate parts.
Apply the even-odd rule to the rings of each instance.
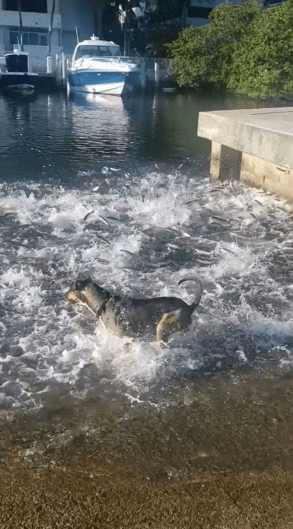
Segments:
[[[101,305],[109,299],[109,293],[87,277],[73,281],[65,297],[70,303],[86,305],[90,311],[97,314]]]

